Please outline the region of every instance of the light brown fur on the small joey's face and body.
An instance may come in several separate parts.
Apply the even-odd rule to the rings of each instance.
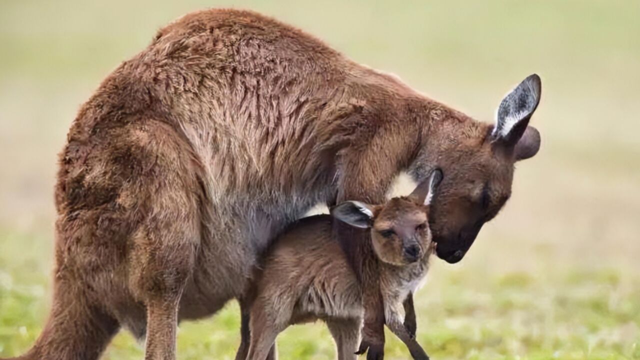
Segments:
[[[410,298],[426,275],[434,248],[428,226],[422,226],[428,218],[428,206],[394,198],[371,209],[375,214],[372,241],[379,244],[374,249],[381,261],[385,321],[406,343],[414,359],[428,359],[415,341],[415,313]],[[389,229],[394,229],[395,234],[381,235],[381,230],[384,233]],[[420,245],[419,258],[406,260],[408,241]],[[266,254],[255,283],[255,299],[244,304],[243,313],[250,314],[250,332],[243,332],[244,345],[236,359],[264,360],[276,336],[289,325],[323,320],[335,340],[338,359],[355,360],[364,315],[361,286],[340,244],[332,238],[332,218],[317,215],[301,219],[279,236]],[[401,304],[407,304],[406,313],[413,316],[412,333],[404,325]],[[245,338],[248,334],[250,342]]]

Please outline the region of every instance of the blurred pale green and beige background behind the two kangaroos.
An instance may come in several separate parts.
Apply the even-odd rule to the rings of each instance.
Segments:
[[[356,61],[493,120],[537,72],[540,153],[458,265],[417,294],[434,359],[640,359],[639,1],[0,0],[0,356],[38,335],[51,294],[57,153],[100,80],[158,28],[207,7],[250,8]],[[230,304],[179,329],[180,359],[232,359]],[[408,352],[387,334],[387,359]],[[282,359],[331,359],[322,324],[278,338]],[[122,332],[105,359],[142,359]]]

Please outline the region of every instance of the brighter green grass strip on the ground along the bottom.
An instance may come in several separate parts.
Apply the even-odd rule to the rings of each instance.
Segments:
[[[21,241],[27,246],[28,238]],[[13,259],[0,257],[0,264]],[[418,339],[434,359],[640,359],[640,278],[618,268],[495,274],[436,265],[417,293]],[[33,343],[46,313],[48,281],[28,262],[0,272],[0,354],[17,355]],[[20,280],[20,281],[19,281]],[[387,332],[388,359],[406,359]],[[180,325],[181,359],[233,359],[239,309]],[[321,323],[296,325],[278,338],[287,359],[332,359]],[[105,359],[141,359],[143,347],[121,332]]]

